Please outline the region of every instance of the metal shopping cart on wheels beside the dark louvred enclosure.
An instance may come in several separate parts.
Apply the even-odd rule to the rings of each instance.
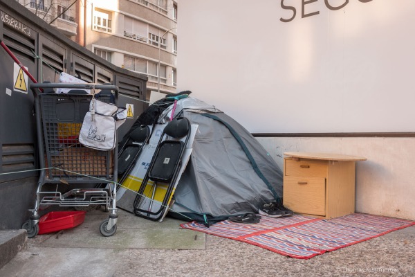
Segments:
[[[55,89],[71,89],[55,93]],[[102,102],[118,100],[118,87],[107,84],[31,84],[35,95],[40,175],[35,208],[21,226],[28,238],[39,233],[39,211],[51,205],[62,207],[104,206],[109,219],[100,224],[100,233],[116,233],[116,181],[118,148],[109,151],[86,148],[78,141],[92,94]],[[42,92],[43,91],[43,92]],[[116,103],[115,103],[116,104]],[[98,186],[101,184],[101,186]],[[104,184],[104,185],[102,185]],[[79,188],[74,188],[79,187]]]

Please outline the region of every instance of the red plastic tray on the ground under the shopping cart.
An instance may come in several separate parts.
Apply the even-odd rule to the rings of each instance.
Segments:
[[[85,220],[85,211],[50,212],[40,217],[39,235],[70,229],[82,224]]]

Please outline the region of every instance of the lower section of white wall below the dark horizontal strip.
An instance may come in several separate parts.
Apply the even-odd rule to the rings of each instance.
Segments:
[[[283,168],[284,152],[361,154],[356,211],[415,220],[415,138],[258,138]]]

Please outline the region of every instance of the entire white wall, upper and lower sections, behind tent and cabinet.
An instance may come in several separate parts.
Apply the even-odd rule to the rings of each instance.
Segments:
[[[181,0],[178,91],[253,133],[414,132],[415,1],[306,1],[304,18],[302,3]],[[415,220],[414,138],[259,141],[281,166],[284,151],[366,157],[356,211]]]

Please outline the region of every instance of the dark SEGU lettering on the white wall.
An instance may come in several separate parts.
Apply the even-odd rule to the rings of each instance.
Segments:
[[[301,18],[312,17],[313,15],[318,15],[320,13],[319,10],[313,10],[313,5],[310,5],[311,3],[314,3],[317,1],[319,0],[301,0]],[[323,1],[323,0],[320,0],[320,1]],[[338,2],[338,0],[336,1]],[[361,3],[368,3],[373,0],[354,0],[354,1],[359,1]],[[324,3],[326,4],[326,8],[328,8],[329,10],[340,10],[341,8],[344,8],[349,3],[349,0],[343,0],[342,3],[341,4],[338,3],[337,6],[333,4],[333,0],[324,0]],[[284,3],[284,0],[281,0],[281,8],[283,8],[284,10],[291,10],[293,15],[288,18],[281,17],[279,20],[283,22],[290,22],[290,21],[293,21],[293,19],[295,19],[295,16],[297,15],[297,9],[294,6],[289,6],[286,3]]]

